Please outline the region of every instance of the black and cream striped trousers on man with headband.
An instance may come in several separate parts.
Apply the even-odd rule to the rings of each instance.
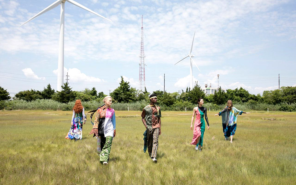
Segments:
[[[147,149],[151,158],[156,158],[159,128],[147,129]]]

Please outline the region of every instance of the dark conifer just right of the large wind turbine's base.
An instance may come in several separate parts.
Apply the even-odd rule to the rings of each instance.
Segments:
[[[68,83],[64,83],[62,85],[61,91],[57,91],[55,96],[52,97],[52,99],[59,101],[61,103],[68,103],[69,101],[75,100],[75,92],[72,91],[72,88],[68,86]]]

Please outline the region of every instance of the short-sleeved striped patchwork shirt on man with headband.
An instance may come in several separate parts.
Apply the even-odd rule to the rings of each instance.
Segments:
[[[153,107],[146,106],[143,109],[141,117],[143,117],[146,121],[146,125],[148,129],[160,128],[158,123],[158,117],[161,117],[160,107],[158,107],[159,115],[157,116],[157,109],[154,105]]]

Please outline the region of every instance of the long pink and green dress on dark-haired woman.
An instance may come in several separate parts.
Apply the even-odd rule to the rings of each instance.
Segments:
[[[197,110],[195,111],[195,121],[194,121],[194,130],[193,130],[193,138],[191,145],[196,146],[203,146],[204,142],[204,130],[205,130],[205,122],[204,117],[207,121],[209,126],[208,116],[207,116],[207,109],[204,107],[197,106]]]

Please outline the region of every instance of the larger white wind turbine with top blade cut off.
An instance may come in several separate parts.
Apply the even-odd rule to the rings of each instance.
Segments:
[[[59,62],[58,62],[58,81],[57,81],[57,90],[61,91],[62,88],[61,86],[64,85],[64,23],[65,23],[65,2],[68,1],[70,3],[72,3],[73,5],[76,5],[84,10],[87,10],[93,14],[96,14],[97,16],[100,16],[101,18],[104,18],[110,22],[112,22],[111,20],[101,16],[100,14],[97,14],[96,12],[88,9],[87,7],[79,4],[78,2],[75,2],[73,0],[57,0],[56,2],[52,3],[51,5],[47,6],[47,8],[45,8],[44,10],[42,10],[41,12],[39,12],[38,14],[34,15],[31,19],[27,20],[26,22],[24,22],[23,24],[21,24],[20,26],[26,24],[27,22],[35,19],[36,17],[38,17],[41,14],[44,14],[45,12],[57,7],[59,4],[61,4],[61,15],[60,15],[60,43],[59,43]]]

